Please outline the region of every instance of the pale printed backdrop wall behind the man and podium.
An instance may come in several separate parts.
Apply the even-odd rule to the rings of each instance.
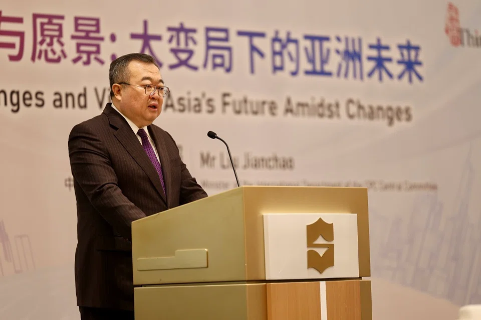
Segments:
[[[0,5],[0,318],[79,318],[67,138],[134,51],[209,194],[208,130],[242,184],[369,187],[375,319],[481,302],[479,1],[42,2]]]

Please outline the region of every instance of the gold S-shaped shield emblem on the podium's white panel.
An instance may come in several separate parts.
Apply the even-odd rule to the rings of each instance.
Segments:
[[[334,266],[334,243],[314,243],[319,236],[326,241],[334,241],[334,225],[327,223],[322,218],[307,225],[307,247],[308,248],[327,248],[323,255],[316,250],[307,251],[307,268],[314,268],[320,273],[328,267]]]

